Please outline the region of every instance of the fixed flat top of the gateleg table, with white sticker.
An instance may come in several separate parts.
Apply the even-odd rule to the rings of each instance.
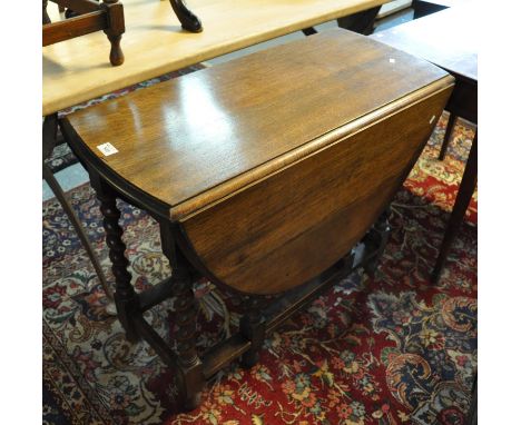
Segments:
[[[68,119],[108,168],[181,217],[377,120],[391,103],[445,77],[424,60],[332,30]],[[118,152],[105,156],[97,148],[105,142]]]

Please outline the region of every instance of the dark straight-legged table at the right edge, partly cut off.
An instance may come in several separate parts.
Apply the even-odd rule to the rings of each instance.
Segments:
[[[438,1],[436,1],[438,2]],[[442,1],[441,3],[444,3]],[[454,90],[445,106],[451,113],[440,159],[448,148],[456,117],[478,123],[478,46],[479,26],[475,8],[466,1],[429,17],[407,22],[372,36],[390,46],[417,55],[455,77]],[[472,142],[463,179],[453,207],[448,229],[432,273],[438,280],[446,260],[450,245],[461,225],[478,181],[478,136]]]

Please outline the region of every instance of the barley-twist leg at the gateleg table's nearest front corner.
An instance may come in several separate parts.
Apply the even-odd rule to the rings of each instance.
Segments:
[[[174,229],[170,223],[160,223],[161,246],[171,268],[174,320],[177,325],[175,340],[177,343],[177,367],[181,382],[183,405],[193,411],[200,404],[200,392],[205,384],[203,363],[196,349],[196,315],[197,305],[193,291],[191,267],[177,249]]]

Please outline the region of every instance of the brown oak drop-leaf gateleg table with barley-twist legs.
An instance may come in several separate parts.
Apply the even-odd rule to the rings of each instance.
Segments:
[[[367,230],[414,165],[452,86],[425,61],[337,30],[63,122],[89,172],[160,224],[171,280],[128,304],[120,319],[175,368],[186,408],[198,405],[204,378],[239,356],[250,367],[268,332],[354,267],[375,265],[385,216]],[[104,156],[97,147],[105,142],[118,152]],[[111,198],[102,201],[124,289],[116,212]],[[239,333],[201,357],[197,274],[253,294]],[[141,316],[170,287],[176,353]],[[255,296],[283,291],[266,305]]]

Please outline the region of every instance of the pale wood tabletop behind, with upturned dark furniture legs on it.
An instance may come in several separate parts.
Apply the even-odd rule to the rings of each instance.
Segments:
[[[190,0],[204,31],[181,30],[169,2],[125,0],[125,65],[107,61],[104,33],[43,48],[42,115],[386,0]],[[51,19],[56,4],[49,6]]]

